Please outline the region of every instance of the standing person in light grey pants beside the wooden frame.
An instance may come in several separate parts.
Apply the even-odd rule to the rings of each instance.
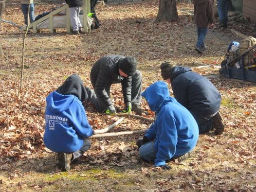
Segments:
[[[73,35],[79,35],[79,33],[83,33],[82,25],[79,19],[79,13],[81,7],[83,6],[83,0],[65,0],[69,5],[70,11],[70,21],[73,26]]]

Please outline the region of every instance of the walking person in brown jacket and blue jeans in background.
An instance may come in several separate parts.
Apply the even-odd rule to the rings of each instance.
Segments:
[[[197,25],[197,44],[196,51],[202,53],[205,50],[204,39],[207,34],[207,28],[213,27],[214,10],[212,0],[193,0],[194,16]],[[210,24],[209,24],[210,23]]]

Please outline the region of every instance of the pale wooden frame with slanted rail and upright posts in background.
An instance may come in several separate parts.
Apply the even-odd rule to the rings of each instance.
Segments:
[[[54,28],[54,15],[60,13],[61,11],[66,10],[66,27],[67,32],[70,33],[70,11],[69,11],[69,5],[63,5],[62,7],[54,10],[53,12],[49,13],[48,15],[39,18],[38,20],[34,21],[33,23],[29,24],[28,28],[33,29],[33,34],[37,33],[37,24],[48,19],[49,18],[49,30],[50,33],[54,33],[56,29]],[[91,6],[90,6],[90,0],[83,0],[83,26],[84,32],[91,31],[91,28],[87,26],[87,14],[91,12]],[[26,26],[19,29],[20,31],[26,30]]]

